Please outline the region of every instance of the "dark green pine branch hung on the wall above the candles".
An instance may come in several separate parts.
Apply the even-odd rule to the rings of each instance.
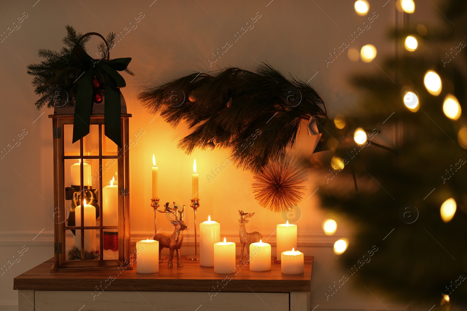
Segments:
[[[230,67],[213,75],[194,73],[138,98],[173,127],[184,121],[193,129],[178,144],[186,153],[213,140],[230,150],[237,167],[253,172],[284,159],[302,119],[327,118],[316,90],[266,63],[255,72]]]

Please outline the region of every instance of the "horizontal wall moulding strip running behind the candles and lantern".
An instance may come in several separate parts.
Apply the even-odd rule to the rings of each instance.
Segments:
[[[153,236],[153,231],[133,231],[131,232],[131,244],[135,245],[136,242],[146,240]],[[223,237],[228,241],[240,243],[238,231],[231,231],[223,233]],[[340,235],[325,235],[324,233],[313,234],[311,232],[299,233],[297,246],[304,247],[327,247],[333,248],[334,242],[337,241]],[[345,236],[348,236],[345,235]],[[199,238],[198,238],[199,240]],[[0,246],[17,246],[17,245],[31,245],[31,246],[53,246],[54,233],[53,231],[0,231]],[[263,242],[268,242],[271,246],[276,246],[275,234],[270,237],[264,236]],[[184,232],[184,246],[194,246],[195,235],[193,231]],[[199,241],[198,241],[199,245]]]

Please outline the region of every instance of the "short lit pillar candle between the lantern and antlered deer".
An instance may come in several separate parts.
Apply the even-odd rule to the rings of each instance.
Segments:
[[[136,273],[159,272],[159,241],[136,242]]]

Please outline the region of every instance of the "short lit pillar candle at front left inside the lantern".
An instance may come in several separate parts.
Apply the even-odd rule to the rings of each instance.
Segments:
[[[85,208],[85,226],[96,226],[96,207],[86,204],[84,200]],[[75,226],[81,226],[81,205],[78,205],[75,209]],[[85,229],[85,251],[91,252],[96,249],[96,229]],[[75,245],[78,249],[81,249],[81,229],[75,230],[74,237]]]

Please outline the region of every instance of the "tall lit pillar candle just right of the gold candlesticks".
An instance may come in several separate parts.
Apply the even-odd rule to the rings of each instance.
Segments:
[[[220,242],[220,223],[211,221],[211,215],[207,221],[199,224],[199,265],[202,267],[214,267],[214,243]]]

